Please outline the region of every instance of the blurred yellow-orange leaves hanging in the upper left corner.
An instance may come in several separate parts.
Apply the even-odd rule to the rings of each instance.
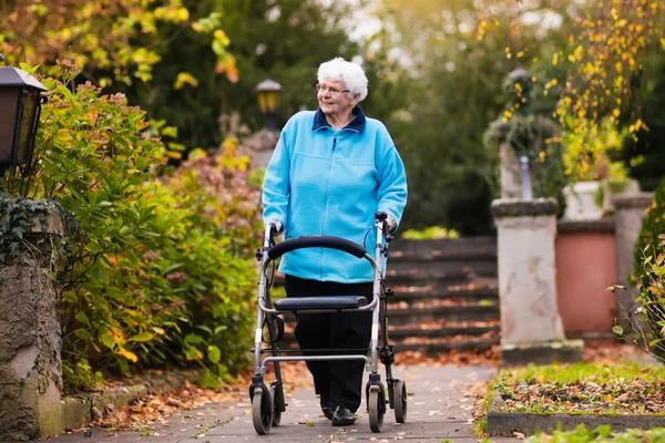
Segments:
[[[162,43],[165,23],[194,29],[198,33],[223,32],[218,12],[193,20],[194,10],[191,12],[183,7],[181,0],[45,0],[42,4],[29,3],[19,1],[18,11],[24,13],[2,11],[4,13],[0,14],[1,29],[21,30],[20,33],[4,33],[0,40],[0,52],[7,60],[13,64],[31,60],[51,75],[57,74],[58,59],[75,60],[91,78],[98,69],[113,71],[114,79],[95,79],[103,85],[112,81],[130,84],[134,78],[150,81],[161,54],[147,48]],[[215,39],[221,40],[217,34]],[[224,56],[231,60],[233,58],[225,51],[227,41],[221,48]],[[216,48],[211,50],[217,53]],[[237,76],[237,72],[232,72],[231,76]]]

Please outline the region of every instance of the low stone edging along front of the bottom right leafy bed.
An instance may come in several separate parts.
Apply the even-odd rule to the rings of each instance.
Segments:
[[[585,425],[589,430],[608,424],[612,426],[612,431],[665,426],[665,415],[499,412],[501,404],[503,404],[501,394],[494,391],[487,415],[487,432],[490,436],[512,434],[513,432],[520,432],[524,435],[533,435],[538,432],[551,433],[559,427],[563,431],[572,431],[580,424]]]

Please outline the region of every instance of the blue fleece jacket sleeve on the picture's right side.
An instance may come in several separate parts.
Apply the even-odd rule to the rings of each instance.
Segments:
[[[397,148],[391,146],[381,162],[379,168],[379,212],[385,212],[392,216],[397,223],[393,230],[397,230],[407,205],[407,173]]]

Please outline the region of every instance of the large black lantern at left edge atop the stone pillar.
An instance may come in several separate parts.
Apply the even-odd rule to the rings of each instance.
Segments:
[[[0,66],[0,176],[13,174],[17,167],[29,176],[44,91],[30,73]]]

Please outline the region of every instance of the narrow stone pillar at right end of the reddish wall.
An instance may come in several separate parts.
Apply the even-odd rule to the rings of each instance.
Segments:
[[[620,306],[617,319],[624,327],[628,321],[624,317],[634,308],[637,289],[631,281],[633,274],[633,258],[635,257],[635,243],[642,228],[642,219],[646,208],[654,199],[653,193],[618,194],[612,198],[614,213],[614,238],[616,241],[616,271],[620,285],[626,290],[617,290],[616,301]]]

